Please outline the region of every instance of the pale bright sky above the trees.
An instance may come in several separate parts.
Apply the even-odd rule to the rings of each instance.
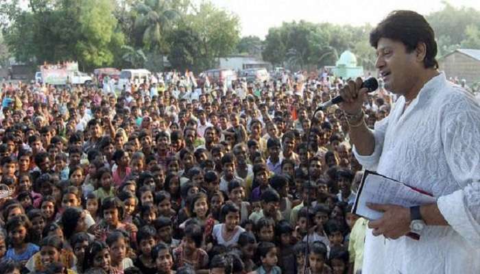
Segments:
[[[200,0],[201,1],[201,0]],[[392,10],[429,14],[442,10],[442,0],[211,0],[217,7],[237,14],[242,36],[265,38],[269,27],[282,22],[310,21],[339,25],[376,25]],[[452,0],[451,5],[480,10],[480,0]]]

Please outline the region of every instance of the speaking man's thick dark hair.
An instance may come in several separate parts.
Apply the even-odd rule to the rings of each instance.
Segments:
[[[370,32],[370,45],[376,49],[380,38],[389,38],[402,42],[407,48],[407,53],[415,50],[418,43],[424,42],[427,53],[423,60],[425,69],[438,69],[437,42],[430,24],[424,16],[411,10],[396,10],[388,14],[372,32]]]

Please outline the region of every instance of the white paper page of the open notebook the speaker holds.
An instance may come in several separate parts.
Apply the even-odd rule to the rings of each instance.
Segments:
[[[363,182],[361,192],[357,195],[355,212],[366,219],[376,220],[380,219],[383,213],[371,210],[367,203],[392,204],[410,208],[435,203],[436,200],[435,197],[413,190],[405,184],[370,173]]]

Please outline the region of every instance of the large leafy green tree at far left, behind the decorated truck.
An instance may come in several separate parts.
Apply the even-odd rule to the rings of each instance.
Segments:
[[[19,61],[77,60],[90,70],[113,64],[123,45],[113,11],[113,0],[30,0],[3,33]]]

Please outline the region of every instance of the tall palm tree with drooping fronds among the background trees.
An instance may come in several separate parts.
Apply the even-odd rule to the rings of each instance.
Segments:
[[[136,5],[139,16],[134,27],[143,32],[143,44],[147,49],[160,49],[165,27],[179,17],[170,6],[169,0],[144,0]]]

